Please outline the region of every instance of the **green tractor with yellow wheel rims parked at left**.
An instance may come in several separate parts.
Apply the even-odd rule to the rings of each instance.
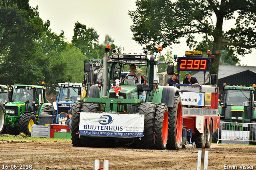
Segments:
[[[44,105],[51,105],[46,99],[44,86],[12,85],[10,101],[5,105],[6,133],[31,135],[31,125],[38,123]]]

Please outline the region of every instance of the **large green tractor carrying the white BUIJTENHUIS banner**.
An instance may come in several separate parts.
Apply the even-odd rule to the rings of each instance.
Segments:
[[[72,107],[73,146],[136,146],[142,149],[178,149],[182,146],[182,105],[177,87],[159,86],[157,61],[147,50],[137,52],[108,49],[102,78],[90,86],[82,101]],[[139,74],[124,79],[130,65]],[[92,64],[84,62],[88,73]],[[168,74],[174,65],[168,65]],[[124,79],[124,81],[122,81]],[[138,82],[137,82],[138,80]],[[119,83],[120,82],[120,83]]]

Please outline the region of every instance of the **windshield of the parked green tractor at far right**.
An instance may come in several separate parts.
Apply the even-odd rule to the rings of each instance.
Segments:
[[[251,91],[228,90],[225,103],[231,106],[251,106]]]

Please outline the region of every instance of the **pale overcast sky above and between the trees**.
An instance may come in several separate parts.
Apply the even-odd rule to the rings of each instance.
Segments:
[[[50,21],[53,32],[60,34],[63,30],[68,42],[72,40],[73,29],[78,21],[87,28],[94,28],[100,35],[100,43],[108,34],[116,45],[121,45],[124,49],[142,49],[142,46],[132,40],[130,30],[132,19],[128,16],[128,10],[136,10],[135,0],[29,0],[29,4],[34,8],[38,6],[40,18]],[[178,57],[185,55],[186,50],[190,49],[185,40],[172,45],[172,54],[177,54]],[[256,66],[255,54],[256,50],[246,57],[239,57],[240,63]]]

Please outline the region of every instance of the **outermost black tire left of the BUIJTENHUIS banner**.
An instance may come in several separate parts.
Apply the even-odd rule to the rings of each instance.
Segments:
[[[73,146],[81,146],[80,136],[79,136],[79,118],[80,110],[82,107],[82,101],[75,101],[72,107],[72,117],[71,117],[71,140]]]

